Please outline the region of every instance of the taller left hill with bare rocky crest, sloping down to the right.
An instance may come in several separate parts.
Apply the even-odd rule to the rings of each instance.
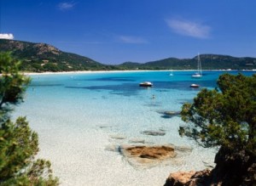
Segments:
[[[113,70],[117,67],[102,65],[78,54],[65,53],[45,43],[20,42],[0,39],[0,51],[11,52],[22,62],[25,71]]]

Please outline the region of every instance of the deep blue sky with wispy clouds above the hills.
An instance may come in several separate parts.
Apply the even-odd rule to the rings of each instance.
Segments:
[[[0,37],[103,64],[256,57],[255,0],[0,0]]]

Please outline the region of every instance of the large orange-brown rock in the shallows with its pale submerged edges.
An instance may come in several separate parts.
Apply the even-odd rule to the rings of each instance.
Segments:
[[[192,148],[173,144],[110,144],[105,150],[123,155],[124,160],[134,168],[147,169],[153,166],[182,165],[183,156],[189,155]]]

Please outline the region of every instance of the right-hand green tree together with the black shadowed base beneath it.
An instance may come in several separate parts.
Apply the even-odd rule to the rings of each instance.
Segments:
[[[217,88],[202,89],[193,103],[183,104],[187,125],[179,133],[203,147],[219,147],[212,175],[223,185],[256,184],[255,87],[255,74],[224,74]]]

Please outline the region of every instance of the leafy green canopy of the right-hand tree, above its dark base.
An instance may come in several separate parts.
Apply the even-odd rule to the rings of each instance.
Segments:
[[[218,88],[202,89],[192,104],[183,104],[180,134],[204,147],[221,146],[256,155],[256,76],[225,74]]]

